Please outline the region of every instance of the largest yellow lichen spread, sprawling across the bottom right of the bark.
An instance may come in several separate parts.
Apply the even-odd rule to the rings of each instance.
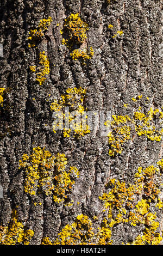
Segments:
[[[151,166],[149,167],[151,168]],[[147,180],[153,180],[155,175],[160,175],[158,172],[147,173],[144,170],[147,168],[139,167],[135,173],[133,184],[126,184],[124,181],[111,179],[106,185],[108,192],[104,192],[102,197],[99,197],[104,202],[105,214],[101,224],[97,229],[93,227],[93,222],[97,222],[98,217],[93,216],[92,221],[86,215],[78,215],[76,221],[72,224],[67,224],[58,233],[57,239],[52,242],[49,237],[45,237],[42,244],[46,245],[111,245],[111,231],[116,225],[128,223],[135,227],[136,225],[145,224],[143,234],[138,235],[132,243],[128,245],[158,245],[162,237],[158,233],[159,223],[155,221],[156,213],[150,211],[151,198],[141,199],[135,204],[135,196],[145,195],[143,185]],[[153,166],[152,166],[153,169]],[[154,184],[156,187],[157,185]],[[162,208],[158,194],[153,202],[156,208]],[[113,210],[117,211],[116,216],[113,216]],[[128,211],[127,211],[128,209]],[[97,231],[98,230],[98,231]]]

